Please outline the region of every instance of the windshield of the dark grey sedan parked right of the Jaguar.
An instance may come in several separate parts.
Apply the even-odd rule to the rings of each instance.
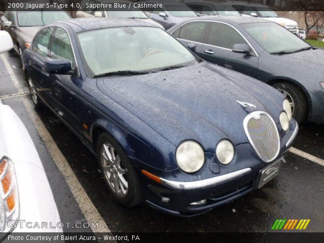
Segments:
[[[311,48],[297,35],[276,23],[249,23],[241,26],[270,54]]]

